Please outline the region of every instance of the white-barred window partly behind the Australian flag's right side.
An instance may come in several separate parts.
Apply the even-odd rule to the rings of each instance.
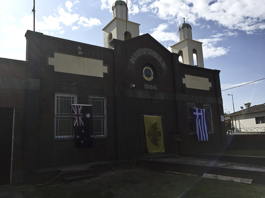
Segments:
[[[93,137],[107,137],[107,97],[89,95],[92,105]]]

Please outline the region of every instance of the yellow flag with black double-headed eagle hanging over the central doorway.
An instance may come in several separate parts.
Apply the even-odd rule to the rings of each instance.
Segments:
[[[165,152],[161,116],[144,116],[148,153]]]

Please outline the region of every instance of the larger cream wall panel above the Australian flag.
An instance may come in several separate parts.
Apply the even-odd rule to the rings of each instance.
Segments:
[[[54,71],[70,74],[103,77],[107,67],[102,60],[54,53],[54,58],[49,57],[49,65],[54,65]]]

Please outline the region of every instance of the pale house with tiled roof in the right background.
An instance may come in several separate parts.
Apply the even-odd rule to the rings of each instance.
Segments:
[[[250,104],[245,103],[246,109],[241,107],[242,110],[225,116],[226,120],[230,118],[232,126],[237,127],[240,132],[265,132],[265,103],[254,106]]]

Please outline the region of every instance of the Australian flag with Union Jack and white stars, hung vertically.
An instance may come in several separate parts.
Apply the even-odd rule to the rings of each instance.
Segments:
[[[74,139],[77,147],[93,146],[91,105],[72,104]]]

